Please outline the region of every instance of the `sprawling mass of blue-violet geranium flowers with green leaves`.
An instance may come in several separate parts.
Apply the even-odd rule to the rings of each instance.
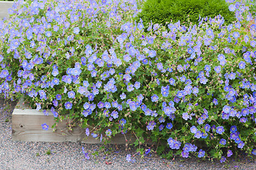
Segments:
[[[134,21],[143,1],[18,1],[0,21],[0,92],[100,140],[161,143],[167,157],[256,154],[255,16],[228,3],[227,26],[216,16],[165,28]]]

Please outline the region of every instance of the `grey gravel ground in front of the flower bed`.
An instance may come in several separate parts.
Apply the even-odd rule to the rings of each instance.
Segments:
[[[3,107],[11,106],[9,111]],[[11,112],[16,106],[13,102],[5,105],[0,99],[0,169],[256,169],[255,157],[234,158],[221,164],[218,161],[201,161],[196,157],[174,160],[161,159],[150,155],[141,159],[133,157],[127,162],[127,154],[135,154],[135,149],[126,151],[124,145],[108,145],[107,152],[101,152],[102,145],[87,145],[74,142],[14,142],[11,140]],[[86,159],[82,152],[89,154]],[[46,154],[48,151],[49,154]],[[99,152],[99,154],[94,154]],[[94,155],[93,155],[94,154]]]

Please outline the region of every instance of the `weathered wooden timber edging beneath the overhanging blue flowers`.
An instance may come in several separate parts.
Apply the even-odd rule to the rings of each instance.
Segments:
[[[44,115],[43,112],[35,109],[14,109],[12,115],[12,139],[14,141],[30,141],[30,142],[82,142],[88,144],[102,144],[100,140],[94,137],[85,135],[85,130],[82,128],[73,128],[72,132],[67,130],[65,121],[58,123],[55,132],[50,128],[54,123],[54,117],[50,111],[49,115]],[[46,123],[49,125],[49,130],[43,130],[41,125]],[[103,134],[105,135],[105,134]],[[134,142],[135,138],[132,135],[118,134],[111,140],[112,144],[126,144]]]

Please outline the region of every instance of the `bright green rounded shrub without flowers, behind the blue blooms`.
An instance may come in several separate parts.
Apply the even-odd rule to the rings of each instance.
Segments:
[[[192,23],[199,23],[201,17],[224,17],[226,23],[235,21],[234,13],[228,10],[225,0],[148,0],[145,1],[141,13],[138,14],[143,23],[169,23],[180,21],[188,25],[188,19]]]

